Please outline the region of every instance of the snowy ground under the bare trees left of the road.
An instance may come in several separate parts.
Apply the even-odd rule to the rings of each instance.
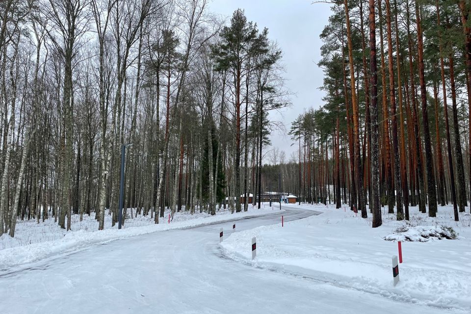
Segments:
[[[126,219],[121,230],[118,230],[117,224],[111,227],[111,216],[106,215],[105,230],[103,231],[98,231],[98,222],[94,218],[94,214],[92,216],[84,215],[82,221],[79,221],[78,215],[73,215],[69,232],[61,229],[53,218],[39,224],[35,220],[18,221],[14,238],[8,234],[0,236],[0,270],[35,262],[59,253],[77,251],[92,244],[157,231],[184,229],[264,215],[272,213],[273,210],[268,206],[260,210],[249,207],[246,212],[231,214],[229,209],[220,209],[216,211],[214,216],[206,212],[190,214],[188,211],[181,211],[175,213],[170,223],[168,223],[169,211],[166,211],[165,217],[160,218],[157,225],[154,224],[154,219],[151,219],[150,215],[147,217],[138,215],[133,219]]]

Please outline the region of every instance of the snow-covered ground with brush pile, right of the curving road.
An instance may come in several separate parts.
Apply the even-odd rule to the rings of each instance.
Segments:
[[[296,208],[298,205],[284,205]],[[299,208],[299,207],[298,207]],[[410,208],[409,224],[385,213],[383,225],[371,228],[371,214],[363,219],[346,210],[302,204],[322,214],[302,220],[235,232],[220,245],[231,258],[256,267],[300,275],[337,287],[353,288],[393,300],[471,312],[471,217],[452,207],[439,207],[429,218]],[[469,209],[467,209],[469,210]],[[457,239],[430,237],[438,226],[451,227]],[[396,234],[398,228],[408,230]],[[400,282],[392,285],[392,256],[404,234],[417,241],[402,242]],[[251,238],[257,237],[257,258],[251,260]],[[422,240],[422,242],[420,242]]]

